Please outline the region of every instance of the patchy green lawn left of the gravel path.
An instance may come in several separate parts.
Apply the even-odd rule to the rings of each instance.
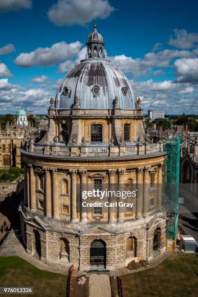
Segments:
[[[30,296],[35,297],[65,297],[66,280],[66,275],[40,270],[19,257],[0,257],[0,286],[33,287]]]

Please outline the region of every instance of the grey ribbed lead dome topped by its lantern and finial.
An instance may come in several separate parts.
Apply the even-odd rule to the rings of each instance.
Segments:
[[[94,33],[98,34],[99,39],[93,39]],[[91,34],[91,39],[88,36],[86,43],[87,59],[71,70],[60,84],[55,108],[71,109],[75,97],[78,97],[81,109],[111,109],[117,97],[119,108],[135,109],[130,82],[122,71],[104,58],[103,38],[99,37],[96,25]]]

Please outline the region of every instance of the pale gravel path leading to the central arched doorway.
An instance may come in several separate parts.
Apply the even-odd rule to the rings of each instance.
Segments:
[[[110,279],[107,274],[91,274],[89,278],[89,297],[111,297]]]

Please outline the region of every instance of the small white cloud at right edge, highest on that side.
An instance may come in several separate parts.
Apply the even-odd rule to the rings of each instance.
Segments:
[[[175,29],[175,38],[170,36],[168,44],[178,49],[191,49],[198,45],[198,33],[187,33],[184,29]]]

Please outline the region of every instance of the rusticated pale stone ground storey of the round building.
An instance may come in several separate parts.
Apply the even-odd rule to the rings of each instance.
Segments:
[[[148,221],[150,224],[148,225]],[[151,223],[152,221],[152,223]],[[80,232],[71,228],[57,231],[44,223],[38,216],[27,217],[21,212],[22,237],[27,253],[37,256],[44,263],[60,267],[74,264],[81,271],[93,268],[90,265],[90,246],[94,240],[101,240],[106,249],[106,269],[115,270],[125,267],[132,260],[152,260],[153,236],[158,231],[158,250],[165,251],[165,217],[151,216],[147,219],[122,223],[122,229],[108,228],[108,224],[90,224]],[[148,227],[149,226],[149,227]],[[68,226],[69,227],[69,226]],[[37,234],[37,235],[35,235]],[[37,236],[37,238],[36,238]],[[129,250],[128,239],[133,238],[132,250]],[[68,242],[68,259],[61,258],[61,240]],[[40,241],[40,243],[38,243]],[[37,247],[36,247],[37,245]]]

